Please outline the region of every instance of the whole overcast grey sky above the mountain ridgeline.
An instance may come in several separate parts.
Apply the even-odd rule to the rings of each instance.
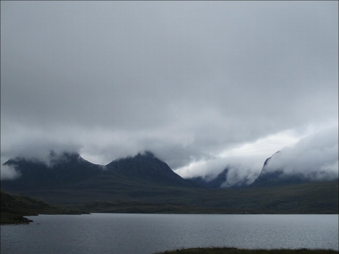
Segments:
[[[1,164],[149,150],[232,185],[282,150],[272,168],[338,175],[338,1],[1,1],[0,19]]]

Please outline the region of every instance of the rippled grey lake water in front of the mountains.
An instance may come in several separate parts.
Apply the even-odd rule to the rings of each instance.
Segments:
[[[149,254],[188,247],[339,249],[338,215],[27,216],[1,226],[1,254]]]

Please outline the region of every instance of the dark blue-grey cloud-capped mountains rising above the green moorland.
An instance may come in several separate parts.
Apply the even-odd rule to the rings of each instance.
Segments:
[[[279,151],[277,152],[279,153]],[[250,187],[265,187],[311,182],[301,174],[285,175],[282,169],[270,171],[267,158],[262,170]],[[217,176],[198,176],[188,179],[176,174],[169,166],[159,160],[152,152],[145,151],[134,157],[119,158],[107,165],[97,165],[84,160],[77,152],[51,152],[44,161],[34,158],[16,157],[3,165],[15,167],[20,174],[15,179],[4,179],[1,188],[8,191],[53,190],[60,188],[90,188],[95,182],[115,186],[140,184],[177,186],[192,188],[223,188],[227,181],[226,167]],[[128,183],[128,184],[127,184]],[[108,186],[107,186],[108,187]],[[232,187],[247,187],[245,181]]]

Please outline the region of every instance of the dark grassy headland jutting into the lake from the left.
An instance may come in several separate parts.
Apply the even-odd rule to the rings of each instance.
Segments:
[[[79,211],[70,210],[61,205],[49,205],[36,197],[26,197],[19,194],[0,192],[0,219],[1,224],[22,224],[32,220],[23,216],[38,214],[79,214]]]

